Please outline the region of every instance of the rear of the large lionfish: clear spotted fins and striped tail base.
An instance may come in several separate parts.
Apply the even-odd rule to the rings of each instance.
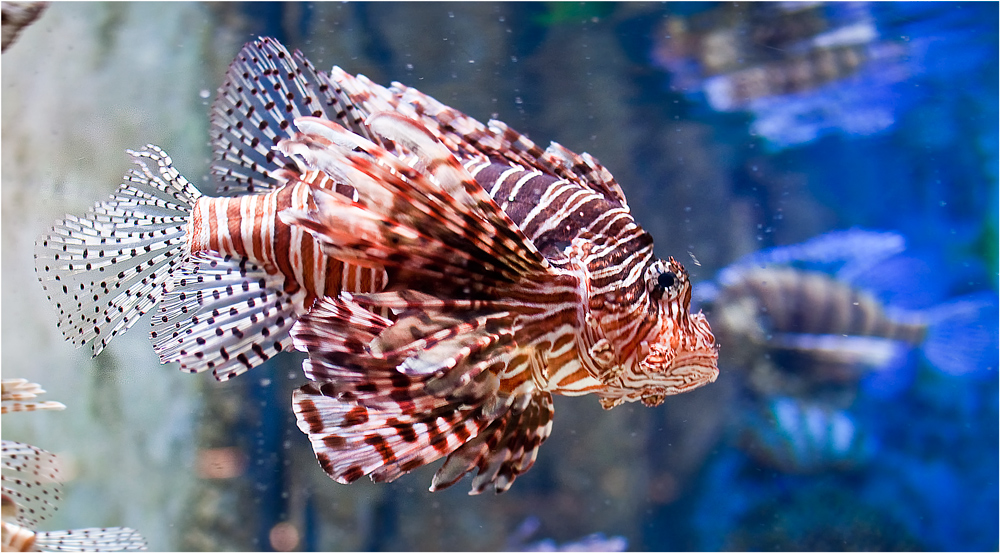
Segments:
[[[315,298],[380,290],[381,268],[330,259],[278,218],[307,208],[310,186],[354,194],[272,157],[290,117],[330,111],[354,121],[336,94],[301,54],[267,39],[248,44],[213,105],[213,174],[223,191],[271,191],[203,197],[161,149],[130,152],[137,167],[110,201],[36,243],[36,271],[66,337],[96,356],[159,304],[152,338],[161,361],[225,380],[290,347],[289,328]]]

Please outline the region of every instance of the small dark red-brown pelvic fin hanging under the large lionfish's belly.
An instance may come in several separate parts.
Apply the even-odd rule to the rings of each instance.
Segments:
[[[534,464],[538,447],[552,432],[553,413],[552,394],[548,392],[536,390],[515,401],[478,436],[448,456],[434,474],[430,490],[447,488],[478,468],[470,495],[491,485],[496,493],[507,491],[514,479]]]

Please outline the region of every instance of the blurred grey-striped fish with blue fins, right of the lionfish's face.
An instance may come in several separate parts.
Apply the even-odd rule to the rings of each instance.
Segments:
[[[902,370],[914,348],[946,374],[995,374],[993,296],[927,306],[943,299],[947,279],[904,249],[892,232],[830,232],[745,256],[695,298],[758,394],[855,384]]]

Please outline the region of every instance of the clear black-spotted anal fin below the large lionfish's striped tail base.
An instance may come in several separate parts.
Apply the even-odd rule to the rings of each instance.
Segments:
[[[212,369],[228,380],[292,347],[289,330],[304,312],[305,292],[288,293],[278,273],[246,258],[202,253],[178,267],[153,318],[153,347],[163,363]]]

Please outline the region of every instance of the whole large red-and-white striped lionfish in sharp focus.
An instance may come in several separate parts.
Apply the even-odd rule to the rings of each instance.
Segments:
[[[111,201],[40,239],[38,272],[95,354],[157,303],[161,359],[220,379],[291,335],[313,381],[299,427],[338,482],[447,457],[432,490],[478,468],[473,493],[502,492],[553,393],[654,406],[718,375],[687,272],[588,154],[269,38],[211,122],[219,190],[241,195],[202,197],[148,146]]]

